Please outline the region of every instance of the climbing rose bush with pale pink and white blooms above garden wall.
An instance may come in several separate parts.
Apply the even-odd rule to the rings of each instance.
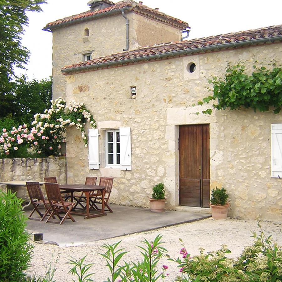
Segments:
[[[96,122],[83,103],[75,100],[66,106],[66,101],[59,97],[51,100],[50,109],[44,113],[34,115],[32,128],[27,124],[13,127],[11,130],[2,129],[0,136],[0,155],[2,157],[21,157],[23,150],[28,149],[30,154],[40,156],[60,155],[61,143],[65,142],[64,133],[67,127],[76,126],[81,132],[81,138],[87,147],[87,137],[84,126],[87,122],[91,128]]]

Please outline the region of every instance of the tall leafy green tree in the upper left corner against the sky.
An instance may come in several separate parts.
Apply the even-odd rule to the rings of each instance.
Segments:
[[[0,117],[13,112],[13,67],[24,68],[29,58],[29,51],[21,44],[24,26],[29,22],[26,12],[41,11],[42,3],[46,1],[0,0]]]

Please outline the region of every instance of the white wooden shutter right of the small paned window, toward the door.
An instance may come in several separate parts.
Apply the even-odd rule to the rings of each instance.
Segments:
[[[131,137],[130,127],[119,128],[120,169],[131,170]]]

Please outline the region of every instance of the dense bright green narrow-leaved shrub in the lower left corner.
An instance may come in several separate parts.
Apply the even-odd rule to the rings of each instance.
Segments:
[[[33,245],[21,203],[15,193],[0,192],[0,281],[21,281],[29,267]]]

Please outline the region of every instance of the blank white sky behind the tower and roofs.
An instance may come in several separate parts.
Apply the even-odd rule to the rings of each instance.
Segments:
[[[31,55],[28,70],[16,74],[25,73],[29,79],[51,75],[52,33],[42,28],[56,19],[89,10],[89,0],[47,1],[41,5],[43,12],[28,13],[29,26],[22,44]],[[281,0],[143,0],[143,4],[187,22],[191,27],[189,39],[282,24]]]

